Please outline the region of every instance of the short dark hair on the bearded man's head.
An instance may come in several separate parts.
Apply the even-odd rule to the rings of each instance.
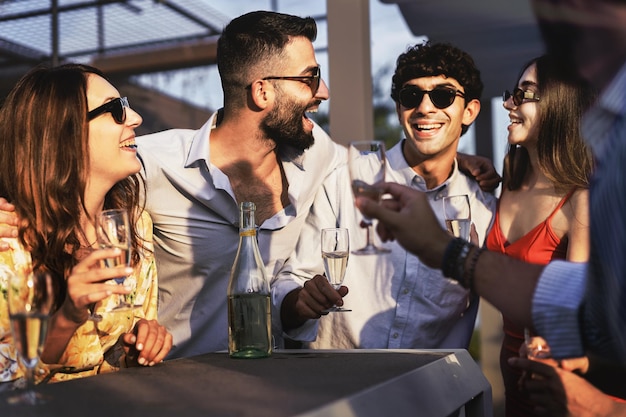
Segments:
[[[315,41],[317,25],[313,18],[255,11],[233,19],[217,42],[217,68],[224,97],[236,97],[241,88],[260,76],[261,70],[280,62],[292,38],[301,36]]]

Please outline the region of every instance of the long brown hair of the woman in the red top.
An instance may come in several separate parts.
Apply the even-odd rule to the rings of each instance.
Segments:
[[[537,102],[539,168],[559,192],[574,187],[588,188],[593,160],[581,136],[580,119],[595,101],[596,92],[588,84],[560,77],[557,67],[546,55],[524,65],[518,80],[532,64],[537,66],[540,97]],[[509,190],[519,189],[529,166],[526,149],[509,145],[504,165],[505,186]]]

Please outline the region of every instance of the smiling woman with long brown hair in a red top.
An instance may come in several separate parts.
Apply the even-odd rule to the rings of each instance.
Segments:
[[[579,121],[593,99],[590,89],[559,79],[545,56],[524,66],[513,93],[504,93],[509,150],[489,250],[540,264],[587,261],[592,161]],[[506,416],[532,416],[532,404],[518,389],[521,374],[507,363],[519,355],[524,329],[507,317],[503,321]]]

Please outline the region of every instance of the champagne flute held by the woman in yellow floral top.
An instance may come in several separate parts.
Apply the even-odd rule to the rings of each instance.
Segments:
[[[131,235],[128,211],[124,209],[112,209],[102,211],[97,218],[96,233],[100,249],[120,250],[120,254],[104,260],[104,266],[115,268],[118,266],[130,266]],[[115,278],[118,285],[124,284],[125,276]],[[133,303],[127,300],[125,294],[116,295],[117,305],[112,310],[128,309]]]

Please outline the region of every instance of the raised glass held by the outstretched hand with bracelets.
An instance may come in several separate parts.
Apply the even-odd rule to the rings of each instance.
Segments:
[[[375,185],[385,181],[385,144],[380,141],[351,142],[348,148],[348,168],[354,197],[366,197],[380,201],[382,193]],[[367,243],[352,251],[355,255],[388,253],[389,250],[374,244],[372,220],[363,216],[367,228]]]

